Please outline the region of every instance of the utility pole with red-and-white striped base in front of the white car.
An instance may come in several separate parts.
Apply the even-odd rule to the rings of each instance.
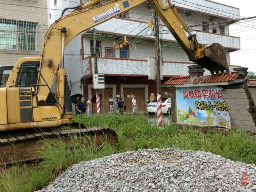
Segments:
[[[161,97],[161,77],[160,77],[160,47],[159,47],[159,22],[155,12],[156,21],[156,100],[157,100],[157,120],[158,126],[162,125],[162,97]]]

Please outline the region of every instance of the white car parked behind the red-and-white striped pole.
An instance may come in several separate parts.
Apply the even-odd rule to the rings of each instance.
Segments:
[[[157,103],[156,103],[156,99],[152,100],[152,102],[150,102],[150,100],[148,100],[146,102],[148,108],[148,113],[150,115],[152,115],[153,113],[157,113]],[[171,99],[170,98],[162,98],[162,113],[170,115],[171,114]]]

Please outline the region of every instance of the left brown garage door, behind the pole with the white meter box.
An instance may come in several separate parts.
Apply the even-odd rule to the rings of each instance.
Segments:
[[[113,88],[105,88],[101,90],[101,94],[102,94],[102,112],[103,113],[107,113],[109,112],[109,103],[108,103],[108,99],[110,95],[113,95]],[[96,89],[92,88],[92,97],[96,95]],[[92,114],[96,114],[97,113],[97,105],[96,103],[92,103]]]

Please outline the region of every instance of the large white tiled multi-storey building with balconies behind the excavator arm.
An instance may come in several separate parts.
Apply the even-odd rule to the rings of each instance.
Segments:
[[[106,0],[100,3],[106,2]],[[50,8],[63,10],[66,7],[74,7],[80,0],[50,1]],[[239,8],[219,4],[210,0],[175,0],[179,14],[188,26],[205,24],[193,27],[190,32],[197,35],[197,40],[202,44],[218,42],[226,51],[229,63],[229,53],[240,49],[240,38],[229,36],[227,23],[209,25],[208,23],[220,22],[239,18]],[[50,10],[50,23],[54,22],[61,11]],[[66,12],[69,13],[69,12]],[[156,96],[156,83],[148,80],[146,61],[150,56],[155,56],[155,40],[147,28],[140,34],[146,23],[152,17],[152,7],[149,3],[132,8],[127,13],[113,18],[96,26],[96,47],[98,53],[98,73],[105,74],[106,89],[102,90],[104,110],[108,110],[108,97],[114,98],[120,95],[126,101],[127,109],[130,110],[131,96],[136,95],[140,105],[138,110],[145,110],[145,102],[151,95]],[[160,22],[163,76],[162,84],[174,75],[187,75],[188,66],[193,65],[188,56],[180,48],[175,38],[168,29]],[[138,36],[134,37],[136,34]],[[116,46],[122,43],[124,36],[127,39],[134,37],[125,50],[111,51],[113,43]],[[70,86],[71,95],[83,93],[91,98],[95,90],[92,89],[91,74],[94,74],[94,58],[91,57],[92,29],[88,30],[70,42],[65,50],[65,68]],[[230,71],[236,66],[230,66]],[[206,70],[204,75],[210,74]],[[82,77],[87,77],[81,82]],[[164,93],[164,86],[162,88]],[[163,94],[162,93],[162,94]],[[92,112],[95,112],[92,105]]]

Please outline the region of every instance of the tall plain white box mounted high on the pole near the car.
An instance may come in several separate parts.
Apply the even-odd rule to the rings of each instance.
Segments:
[[[156,80],[157,74],[156,74],[156,58],[155,57],[148,58],[147,68],[148,68],[148,79]],[[160,60],[160,79],[163,80],[163,67],[162,67],[161,60]]]

